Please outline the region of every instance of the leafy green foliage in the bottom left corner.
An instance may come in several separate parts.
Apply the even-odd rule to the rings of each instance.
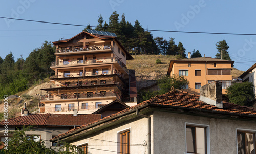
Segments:
[[[34,141],[32,136],[26,136],[26,131],[29,131],[33,126],[28,126],[23,128],[21,130],[17,131],[10,131],[9,133],[12,133],[13,136],[11,137],[11,140],[8,142],[8,149],[2,150],[3,153],[6,154],[13,154],[13,153],[19,153],[19,154],[30,154],[30,153],[49,153],[49,154],[73,154],[77,153],[84,153],[80,148],[74,145],[69,145],[68,143],[61,143],[63,146],[60,148],[47,148],[44,145],[44,141]],[[34,135],[36,136],[36,135]]]

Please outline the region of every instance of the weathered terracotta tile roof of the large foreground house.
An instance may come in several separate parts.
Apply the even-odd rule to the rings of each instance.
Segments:
[[[127,108],[123,111],[120,111],[116,114],[110,115],[108,117],[104,117],[103,119],[99,119],[97,121],[94,121],[92,123],[82,125],[80,127],[71,129],[70,131],[66,133],[59,134],[54,139],[58,137],[64,137],[69,136],[69,134],[78,133],[81,129],[86,129],[90,127],[91,125],[97,125],[102,122],[107,122],[109,119],[113,119],[120,115],[129,114],[132,111],[136,112],[136,109],[142,108],[142,107],[162,107],[162,108],[179,108],[183,109],[184,111],[198,111],[198,112],[206,112],[209,115],[218,113],[222,114],[223,116],[230,116],[230,115],[237,115],[244,117],[251,117],[256,120],[256,110],[253,108],[245,107],[236,105],[233,103],[223,102],[223,108],[217,108],[214,105],[207,104],[205,102],[202,102],[199,100],[199,95],[195,94],[188,94],[187,92],[183,92],[181,90],[174,89],[170,91],[169,93],[163,94],[163,95],[157,95],[156,97],[144,101],[136,106],[132,106],[130,108]]]

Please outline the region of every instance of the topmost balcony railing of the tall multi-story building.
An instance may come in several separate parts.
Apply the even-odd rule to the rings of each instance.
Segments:
[[[65,47],[57,48],[56,53],[70,53],[70,52],[82,52],[82,51],[95,51],[95,50],[110,50],[112,47],[110,45],[102,46],[76,46],[76,47]]]

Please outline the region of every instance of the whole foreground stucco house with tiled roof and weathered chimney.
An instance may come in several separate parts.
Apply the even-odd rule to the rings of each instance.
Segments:
[[[51,141],[91,154],[255,153],[256,111],[220,101],[220,82],[206,86],[213,87],[204,90],[215,91],[216,99],[173,90]]]

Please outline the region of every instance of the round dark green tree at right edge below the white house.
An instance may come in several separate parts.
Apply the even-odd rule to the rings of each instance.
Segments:
[[[241,106],[251,106],[255,98],[254,85],[251,82],[234,83],[226,90],[229,102]]]

